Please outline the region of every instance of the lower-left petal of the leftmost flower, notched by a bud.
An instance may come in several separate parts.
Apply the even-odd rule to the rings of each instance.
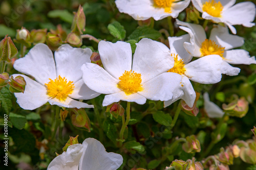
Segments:
[[[25,75],[12,75],[24,77],[27,85],[24,93],[14,93],[17,98],[18,105],[25,110],[34,110],[48,102],[49,96],[46,94],[46,87],[30,79]]]

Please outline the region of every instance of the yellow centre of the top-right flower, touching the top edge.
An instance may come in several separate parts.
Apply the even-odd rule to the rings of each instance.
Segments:
[[[203,12],[207,12],[209,15],[214,17],[221,17],[223,6],[221,2],[216,3],[215,0],[209,0],[203,5]]]

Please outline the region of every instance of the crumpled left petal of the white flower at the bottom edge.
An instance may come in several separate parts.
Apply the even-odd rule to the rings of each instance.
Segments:
[[[82,144],[72,144],[67,152],[63,152],[54,158],[48,166],[48,170],[77,170],[83,153]]]

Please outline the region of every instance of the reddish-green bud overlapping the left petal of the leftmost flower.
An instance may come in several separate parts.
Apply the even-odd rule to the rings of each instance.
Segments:
[[[17,76],[13,79],[13,76],[11,76],[11,79],[8,84],[10,85],[9,90],[14,93],[25,91],[26,81],[22,76]]]

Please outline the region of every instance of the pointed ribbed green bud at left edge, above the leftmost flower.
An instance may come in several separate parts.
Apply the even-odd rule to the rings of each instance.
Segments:
[[[11,40],[11,37],[5,36],[5,38],[0,41],[0,62],[6,61],[11,62],[11,58],[15,57],[18,53],[18,50],[14,43]]]

